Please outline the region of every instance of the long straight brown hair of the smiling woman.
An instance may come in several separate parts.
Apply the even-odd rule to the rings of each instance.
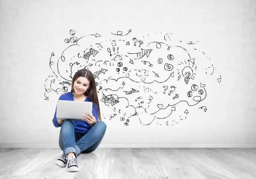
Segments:
[[[80,69],[78,72],[76,72],[76,74],[73,76],[73,79],[72,79],[71,92],[73,93],[75,91],[74,90],[74,83],[75,83],[76,79],[79,78],[80,76],[87,78],[88,81],[89,81],[89,87],[86,90],[86,92],[84,92],[84,95],[89,97],[90,101],[93,102],[93,105],[95,105],[95,104],[97,105],[97,107],[98,107],[98,121],[101,121],[100,110],[99,110],[99,99],[98,99],[98,95],[97,95],[96,83],[95,83],[95,80],[93,78],[93,74],[90,70]]]

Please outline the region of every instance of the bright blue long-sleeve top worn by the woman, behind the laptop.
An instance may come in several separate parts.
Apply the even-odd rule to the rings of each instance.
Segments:
[[[67,92],[60,96],[59,100],[67,100],[67,101],[74,101],[73,94],[71,92]],[[84,101],[90,101],[89,97],[87,96]],[[91,101],[90,101],[91,102]],[[57,107],[55,109],[54,118],[52,119],[53,125],[55,127],[61,127],[61,125],[58,124],[57,118],[56,118],[56,111]],[[98,107],[96,104],[93,103],[93,116],[96,118],[96,121],[98,122]],[[76,133],[87,133],[90,130],[90,124],[86,121],[73,121],[71,120],[75,125],[75,131]]]

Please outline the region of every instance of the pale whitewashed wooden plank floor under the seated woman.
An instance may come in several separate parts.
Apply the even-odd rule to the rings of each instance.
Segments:
[[[58,148],[0,148],[0,179],[256,179],[256,148],[97,148],[69,173]]]

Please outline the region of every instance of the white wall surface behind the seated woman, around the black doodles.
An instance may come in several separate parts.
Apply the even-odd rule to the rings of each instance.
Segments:
[[[108,127],[101,146],[255,147],[255,9],[256,2],[253,0],[207,2],[116,0],[108,3],[103,0],[91,2],[2,0],[0,4],[0,146],[58,145],[60,128],[53,126],[52,118],[60,94],[52,90],[46,92],[44,85],[49,85],[48,82],[53,78],[48,76],[54,75],[53,72],[57,73],[57,67],[62,74],[66,68],[70,70],[70,66],[57,66],[56,62],[61,57],[61,53],[71,45],[65,43],[64,39],[71,37],[70,29],[73,29],[77,38],[86,37],[77,42],[80,46],[65,50],[67,62],[79,60],[73,57],[77,52],[96,48],[96,43],[101,42],[103,49],[98,49],[99,53],[95,58],[90,56],[89,63],[93,62],[92,59],[111,61],[112,58],[107,51],[108,47],[112,48],[111,40],[130,41],[130,46],[124,43],[117,44],[120,47],[119,52],[125,58],[127,52],[141,51],[138,43],[137,46],[133,45],[132,38],[137,38],[144,40],[141,46],[143,49],[153,50],[148,58],[144,56],[134,60],[134,65],[128,63],[128,58],[122,61],[132,70],[131,73],[134,69],[146,69],[151,75],[152,71],[159,73],[160,81],[165,81],[170,73],[164,70],[163,64],[174,65],[172,72],[175,72],[175,76],[166,84],[176,85],[176,94],[179,94],[179,98],[175,100],[172,98],[175,93],[170,96],[163,95],[165,89],[163,83],[154,82],[146,85],[143,82],[132,83],[128,78],[123,78],[126,83],[125,88],[112,94],[118,95],[119,98],[127,98],[138,113],[142,108],[135,108],[139,107],[135,99],[143,96],[143,100],[148,102],[151,93],[143,92],[143,87],[148,87],[152,91],[158,91],[157,95],[153,96],[153,104],[148,107],[148,113],[157,110],[157,104],[174,105],[181,101],[175,105],[176,111],[168,118],[155,119],[151,124],[149,123],[154,115],[138,114],[129,118],[130,122],[125,126],[124,121],[120,121],[120,117],[127,112],[125,111],[127,100],[122,101],[120,98],[118,106],[115,106],[118,115],[111,120],[102,117],[102,121],[105,121]],[[129,29],[131,33],[127,36],[111,34],[117,31],[125,34]],[[96,33],[101,37],[88,36]],[[168,37],[171,40],[168,40]],[[179,42],[180,40],[182,43]],[[195,65],[198,66],[197,70],[193,68],[196,73],[195,79],[190,79],[187,85],[184,83],[184,78],[177,81],[177,73],[184,67],[178,64],[189,60],[186,53],[174,47],[167,50],[164,44],[161,49],[153,46],[152,43],[148,45],[154,41],[186,49],[191,58],[195,58]],[[196,44],[188,44],[190,41]],[[51,58],[52,52],[55,56]],[[175,54],[175,60],[170,62],[166,58],[168,54]],[[157,58],[162,56],[164,59],[161,66],[157,63]],[[132,58],[132,55],[128,57]],[[49,66],[50,58],[54,62],[53,70]],[[141,62],[143,60],[149,61],[154,66],[146,67]],[[118,77],[116,66],[101,64],[99,68],[103,67],[108,69],[108,72],[99,75],[98,81],[111,76],[111,78]],[[90,69],[96,72],[99,68],[94,66]],[[141,81],[141,78],[135,74],[133,73],[130,78]],[[145,78],[146,81],[153,81],[154,77],[151,75],[150,78]],[[217,78],[220,78],[220,75],[219,84]],[[54,78],[56,81],[64,81],[59,75]],[[122,82],[118,82],[113,84],[111,89],[117,90],[122,87],[120,84]],[[186,95],[192,84],[198,84],[200,89],[204,89],[200,87],[200,83],[206,85],[207,96],[196,104]],[[132,87],[137,87],[138,90],[139,86],[138,93],[132,95],[122,93],[131,90]],[[107,86],[102,85],[102,87],[101,91],[111,94],[110,90],[109,93],[104,91]],[[49,100],[45,100],[45,93]],[[99,93],[99,98],[102,98],[102,93]],[[182,102],[183,100],[188,103]],[[206,112],[198,109],[202,106],[207,107]],[[100,107],[105,116],[108,113],[114,114],[113,107],[108,108],[103,102],[100,103]],[[170,112],[169,108],[161,110],[161,115],[157,113],[156,116],[166,117]],[[118,113],[118,109],[122,109],[122,114]],[[189,114],[184,114],[185,110],[188,110]],[[141,124],[139,117],[144,125]],[[166,121],[169,121],[169,126],[166,125]]]

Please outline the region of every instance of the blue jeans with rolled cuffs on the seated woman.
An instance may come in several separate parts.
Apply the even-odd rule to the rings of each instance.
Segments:
[[[74,153],[76,157],[81,152],[92,152],[102,141],[106,128],[103,121],[98,121],[87,133],[77,134],[73,122],[66,119],[61,126],[59,146],[64,154]]]

